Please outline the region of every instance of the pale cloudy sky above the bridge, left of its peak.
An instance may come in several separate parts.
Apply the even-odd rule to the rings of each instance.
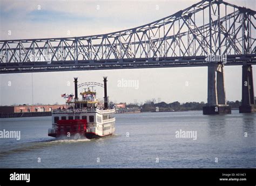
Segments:
[[[0,39],[109,33],[147,24],[184,8],[186,5],[178,1],[1,1]]]

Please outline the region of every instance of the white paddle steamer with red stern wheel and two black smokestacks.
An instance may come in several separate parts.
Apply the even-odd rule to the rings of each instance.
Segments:
[[[78,98],[77,77],[75,98],[69,95],[66,108],[52,110],[52,128],[48,135],[55,138],[82,139],[100,138],[114,133],[115,109],[110,109],[107,98],[107,77],[104,77],[104,107],[99,106],[96,91],[85,89]],[[103,84],[102,84],[103,85]]]

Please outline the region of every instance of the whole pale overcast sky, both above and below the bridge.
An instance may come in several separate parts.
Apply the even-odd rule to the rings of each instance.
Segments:
[[[153,22],[197,2],[0,0],[0,40],[109,33]],[[255,10],[254,0],[226,2]],[[115,102],[207,101],[207,68],[190,67],[0,74],[0,104],[31,104],[32,97],[33,103],[64,103],[60,94],[74,93],[73,77],[82,83],[102,82],[103,76],[108,76],[108,95]],[[135,80],[138,87],[119,87],[121,80]],[[241,67],[225,67],[225,88],[227,100],[241,100]],[[103,89],[96,90],[103,97]]]

